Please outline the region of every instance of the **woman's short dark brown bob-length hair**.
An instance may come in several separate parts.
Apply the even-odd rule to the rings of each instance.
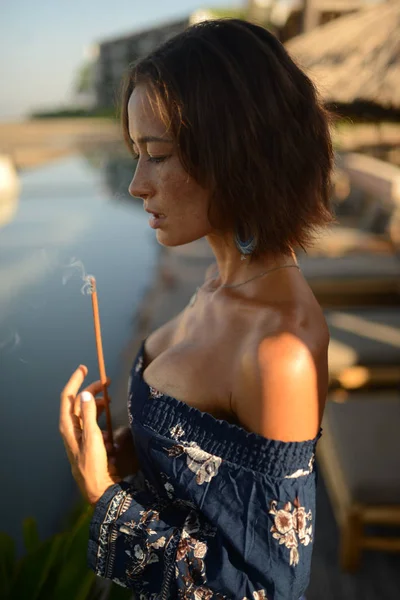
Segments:
[[[127,106],[145,84],[162,107],[184,169],[210,191],[220,231],[254,236],[254,258],[305,248],[332,221],[332,115],[283,45],[239,19],[193,25],[129,67]]]

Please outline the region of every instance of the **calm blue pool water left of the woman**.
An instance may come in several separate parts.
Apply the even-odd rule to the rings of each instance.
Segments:
[[[107,374],[115,380],[128,375],[120,373],[120,353],[157,263],[142,203],[119,202],[126,184],[116,173],[128,177],[127,162],[119,167],[109,151],[21,174],[18,211],[1,229],[0,451],[8,457],[1,478],[12,493],[2,497],[0,530],[19,542],[24,517],[36,516],[47,536],[77,497],[58,433],[59,395],[80,363],[88,382],[99,376],[90,299],[80,293],[79,273],[63,282],[66,268],[78,259],[96,276]]]

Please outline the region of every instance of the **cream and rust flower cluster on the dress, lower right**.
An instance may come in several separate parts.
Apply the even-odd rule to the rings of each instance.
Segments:
[[[269,513],[275,517],[275,523],[270,530],[272,537],[290,549],[290,565],[296,566],[299,563],[299,543],[308,546],[312,542],[312,525],[307,527],[307,519],[311,521],[312,514],[311,510],[306,513],[298,498],[293,504],[293,512],[291,502],[287,502],[283,509],[277,510],[277,501],[273,500]]]

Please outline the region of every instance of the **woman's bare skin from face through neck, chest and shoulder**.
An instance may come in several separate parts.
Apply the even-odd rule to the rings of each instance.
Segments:
[[[217,277],[200,288],[194,307],[147,339],[147,355],[151,363],[157,357],[157,364],[155,368],[149,364],[146,381],[169,393],[171,373],[176,372],[173,379],[180,387],[172,390],[172,396],[188,398],[212,414],[221,410],[226,414],[229,405],[245,429],[267,438],[312,439],[322,418],[328,381],[329,335],[321,308],[297,269],[274,270],[267,278],[248,282],[269,269],[295,265],[294,253],[289,257],[266,253],[250,266],[241,260],[233,232],[222,234],[212,228],[207,217],[209,192],[182,167],[159,107],[143,85],[129,99],[128,121],[139,159],[129,191],[143,199],[145,208],[166,215],[156,230],[157,241],[180,246],[206,237],[218,266]],[[154,137],[156,141],[149,139]],[[243,287],[224,285],[243,282]],[[168,352],[174,335],[197,348],[198,360],[206,365],[201,386],[193,358],[181,355],[174,363]],[[248,367],[242,357],[247,357]],[[220,397],[215,394],[216,378]],[[209,402],[204,406],[206,397],[212,399],[211,408]]]

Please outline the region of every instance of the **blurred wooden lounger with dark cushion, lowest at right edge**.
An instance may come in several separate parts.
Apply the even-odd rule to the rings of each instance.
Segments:
[[[328,401],[317,461],[340,529],[340,562],[363,550],[400,551],[400,392],[362,392]],[[388,530],[389,528],[389,530]]]

